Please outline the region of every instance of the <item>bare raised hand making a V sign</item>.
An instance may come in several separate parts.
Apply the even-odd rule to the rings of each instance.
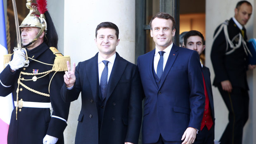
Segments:
[[[67,87],[71,87],[76,82],[76,76],[75,76],[76,64],[73,63],[72,71],[70,70],[71,68],[70,68],[69,61],[66,61],[66,64],[67,64],[67,67],[68,67],[68,71],[65,71],[64,82],[65,82]]]

